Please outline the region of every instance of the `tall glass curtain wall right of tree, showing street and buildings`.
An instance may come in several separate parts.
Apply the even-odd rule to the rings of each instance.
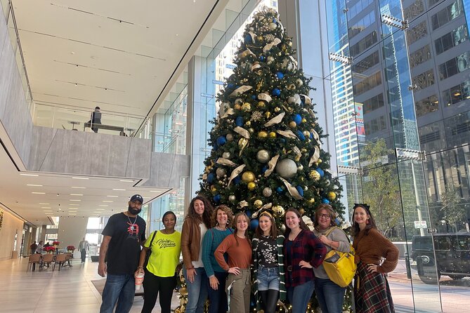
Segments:
[[[466,1],[325,4],[348,207],[370,204],[400,248],[389,277],[397,312],[462,310],[469,262],[449,255],[470,255]]]

